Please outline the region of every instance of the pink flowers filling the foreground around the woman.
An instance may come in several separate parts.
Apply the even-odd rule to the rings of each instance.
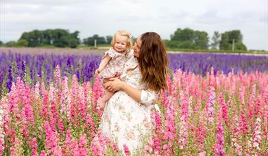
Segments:
[[[130,155],[98,131],[100,79],[60,75],[34,86],[21,78],[0,101],[1,155]],[[154,104],[153,135],[141,155],[267,155],[267,73],[176,70]]]

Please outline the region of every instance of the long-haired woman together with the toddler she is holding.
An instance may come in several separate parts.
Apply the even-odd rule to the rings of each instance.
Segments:
[[[119,149],[127,145],[133,153],[141,150],[143,137],[151,134],[151,106],[159,91],[167,88],[167,51],[155,32],[139,36],[134,51],[127,31],[117,31],[111,44],[95,72],[108,91],[98,101],[103,109],[99,129]]]

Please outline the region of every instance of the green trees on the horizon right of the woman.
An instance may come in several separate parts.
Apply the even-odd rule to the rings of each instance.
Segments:
[[[171,40],[165,40],[167,47],[171,49],[220,49],[220,50],[247,50],[242,42],[243,36],[240,30],[223,32],[215,31],[211,42],[206,31],[198,31],[190,28],[178,28],[171,34]]]

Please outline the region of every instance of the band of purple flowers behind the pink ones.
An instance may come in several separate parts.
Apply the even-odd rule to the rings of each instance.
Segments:
[[[56,51],[56,49],[55,49]],[[100,52],[101,54],[102,52]],[[90,81],[94,75],[101,55],[59,55],[54,53],[23,54],[12,51],[0,51],[0,97],[6,92],[10,92],[12,82],[17,77],[21,77],[31,86],[37,81],[44,81],[47,86],[51,81],[55,81],[53,72],[56,64],[61,67],[60,75],[71,79],[76,75],[77,81],[84,83]],[[228,74],[252,73],[256,70],[260,72],[268,71],[268,57],[254,55],[220,55],[208,53],[180,53],[169,54],[171,70],[180,68],[182,71],[190,71],[205,76],[211,67],[217,72]]]

